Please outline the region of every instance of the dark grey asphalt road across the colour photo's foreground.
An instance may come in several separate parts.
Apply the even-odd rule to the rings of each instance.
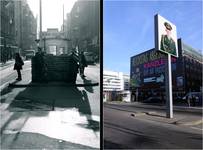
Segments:
[[[106,149],[202,149],[200,129],[160,122],[160,119],[151,120],[142,114],[132,116],[129,111],[108,106],[104,105]]]

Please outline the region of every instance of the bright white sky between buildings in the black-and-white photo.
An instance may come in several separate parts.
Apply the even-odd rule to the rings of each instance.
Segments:
[[[42,30],[47,28],[61,29],[63,23],[63,4],[65,14],[70,12],[76,0],[42,0]],[[38,14],[39,0],[27,0],[34,16]]]

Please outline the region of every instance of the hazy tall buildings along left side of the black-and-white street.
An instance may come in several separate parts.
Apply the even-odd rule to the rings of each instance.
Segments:
[[[1,61],[36,48],[37,20],[26,0],[3,0],[1,5]]]

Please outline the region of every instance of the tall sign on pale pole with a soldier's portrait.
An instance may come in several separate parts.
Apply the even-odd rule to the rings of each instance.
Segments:
[[[155,48],[166,54],[165,93],[166,117],[173,118],[171,56],[178,57],[176,26],[160,15],[155,15]]]

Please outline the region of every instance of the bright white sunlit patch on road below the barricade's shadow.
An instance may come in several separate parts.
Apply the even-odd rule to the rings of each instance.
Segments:
[[[41,117],[35,117],[35,113],[39,112],[31,112],[21,132],[39,133],[76,144],[100,147],[99,116],[81,114],[76,108],[50,111],[47,116]]]

